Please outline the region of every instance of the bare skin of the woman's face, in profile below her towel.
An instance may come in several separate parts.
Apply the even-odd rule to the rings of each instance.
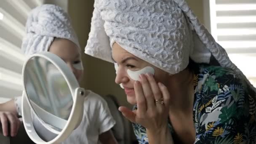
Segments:
[[[130,104],[136,104],[136,96],[133,88],[134,80],[129,77],[127,73],[128,69],[131,71],[138,71],[147,66],[153,67],[155,70],[155,80],[163,84],[167,83],[167,79],[170,76],[167,72],[164,72],[163,70],[154,67],[152,64],[132,55],[128,51],[125,51],[125,49],[117,43],[114,43],[112,46],[112,58],[119,66],[115,83],[123,85],[127,95],[127,101]]]

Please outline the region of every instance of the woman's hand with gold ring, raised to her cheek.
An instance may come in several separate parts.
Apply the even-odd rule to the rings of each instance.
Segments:
[[[137,107],[131,111],[120,107],[123,115],[133,123],[142,125],[147,131],[160,133],[168,127],[170,94],[162,83],[156,83],[151,74],[140,75],[141,82],[135,81],[134,91]]]

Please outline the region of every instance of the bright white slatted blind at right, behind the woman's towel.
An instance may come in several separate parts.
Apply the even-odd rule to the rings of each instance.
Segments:
[[[256,0],[209,0],[211,34],[256,86]]]

